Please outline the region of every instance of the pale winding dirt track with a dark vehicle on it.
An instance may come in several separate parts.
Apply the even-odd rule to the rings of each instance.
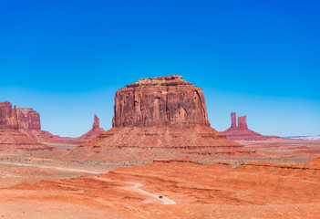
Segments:
[[[98,176],[95,177],[96,179],[100,180],[100,181],[105,181],[105,182],[110,182],[111,180],[106,179],[106,178],[100,178]],[[129,183],[131,184],[131,186],[127,186],[124,187],[126,189],[129,189],[130,191],[134,191],[136,193],[141,193],[144,195],[149,196],[150,198],[152,198],[154,201],[161,201],[163,204],[177,204],[175,201],[173,201],[170,198],[167,198],[165,196],[162,196],[162,198],[159,198],[159,195],[155,194],[155,193],[149,193],[143,189],[140,189],[139,187],[143,186],[143,184],[141,183],[132,183],[132,182],[125,182],[125,183]]]

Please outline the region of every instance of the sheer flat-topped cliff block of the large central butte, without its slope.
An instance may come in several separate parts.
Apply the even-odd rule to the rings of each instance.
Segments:
[[[113,127],[210,126],[201,88],[181,76],[142,78],[116,92]]]

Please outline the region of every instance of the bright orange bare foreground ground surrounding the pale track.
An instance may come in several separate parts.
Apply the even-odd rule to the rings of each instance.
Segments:
[[[2,218],[316,218],[320,159],[299,165],[151,162],[0,189]],[[177,204],[125,189],[141,183]]]

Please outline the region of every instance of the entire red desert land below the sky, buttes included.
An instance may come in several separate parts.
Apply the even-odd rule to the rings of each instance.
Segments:
[[[119,89],[113,128],[78,138],[1,104],[1,218],[319,218],[320,141],[214,130],[181,76]]]

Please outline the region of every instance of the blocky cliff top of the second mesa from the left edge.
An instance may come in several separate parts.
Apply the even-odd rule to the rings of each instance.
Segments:
[[[32,108],[18,108],[17,117],[19,129],[21,130],[41,130],[40,114]]]

